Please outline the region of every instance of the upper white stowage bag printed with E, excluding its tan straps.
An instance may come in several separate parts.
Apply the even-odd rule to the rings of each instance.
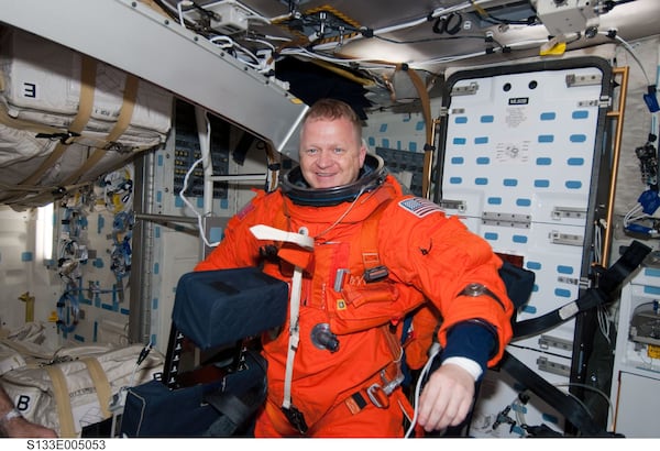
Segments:
[[[41,36],[18,30],[0,30],[0,99],[18,120],[67,130],[78,113],[81,91],[81,55]],[[128,75],[95,62],[94,102],[85,131],[102,138],[117,121]],[[121,142],[156,145],[172,125],[173,96],[140,80],[135,107]]]

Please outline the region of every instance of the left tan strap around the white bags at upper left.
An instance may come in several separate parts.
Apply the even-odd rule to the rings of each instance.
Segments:
[[[69,132],[82,133],[85,125],[91,117],[91,110],[94,107],[94,92],[96,85],[96,59],[87,56],[81,57],[80,63],[80,102],[78,107],[78,113],[68,128]],[[28,178],[21,182],[19,185],[34,185],[38,182],[42,175],[51,168],[64,154],[67,144],[58,142],[51,155],[41,164],[41,166]]]

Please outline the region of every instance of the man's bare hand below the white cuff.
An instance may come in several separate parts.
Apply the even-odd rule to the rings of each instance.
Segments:
[[[419,397],[418,424],[427,432],[458,426],[474,398],[474,378],[459,365],[448,363],[431,373]]]

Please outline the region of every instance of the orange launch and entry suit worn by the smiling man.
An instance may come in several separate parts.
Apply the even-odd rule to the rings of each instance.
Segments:
[[[295,233],[305,228],[314,238],[314,251],[257,240],[250,230],[255,224]],[[278,258],[273,258],[273,250]],[[289,392],[289,318],[280,333],[262,338],[268,394],[256,421],[257,437],[403,437],[399,404],[411,409],[398,386],[397,326],[424,302],[441,314],[442,345],[457,323],[487,327],[496,342],[490,365],[512,337],[513,306],[497,273],[501,260],[458,218],[446,217],[426,199],[404,195],[391,175],[352,202],[323,207],[297,205],[280,189],[260,190],[195,270],[262,264],[264,272],[288,282],[295,266],[304,270],[290,404],[308,429],[302,433],[294,428],[280,409]],[[367,283],[364,274],[370,270],[375,280]],[[473,283],[488,287],[498,299],[461,295]],[[337,339],[334,348],[319,345],[319,330],[328,329]]]

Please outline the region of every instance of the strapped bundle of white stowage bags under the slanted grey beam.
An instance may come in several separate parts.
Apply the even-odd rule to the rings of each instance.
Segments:
[[[163,145],[174,96],[117,67],[0,25],[0,204],[74,195]]]

